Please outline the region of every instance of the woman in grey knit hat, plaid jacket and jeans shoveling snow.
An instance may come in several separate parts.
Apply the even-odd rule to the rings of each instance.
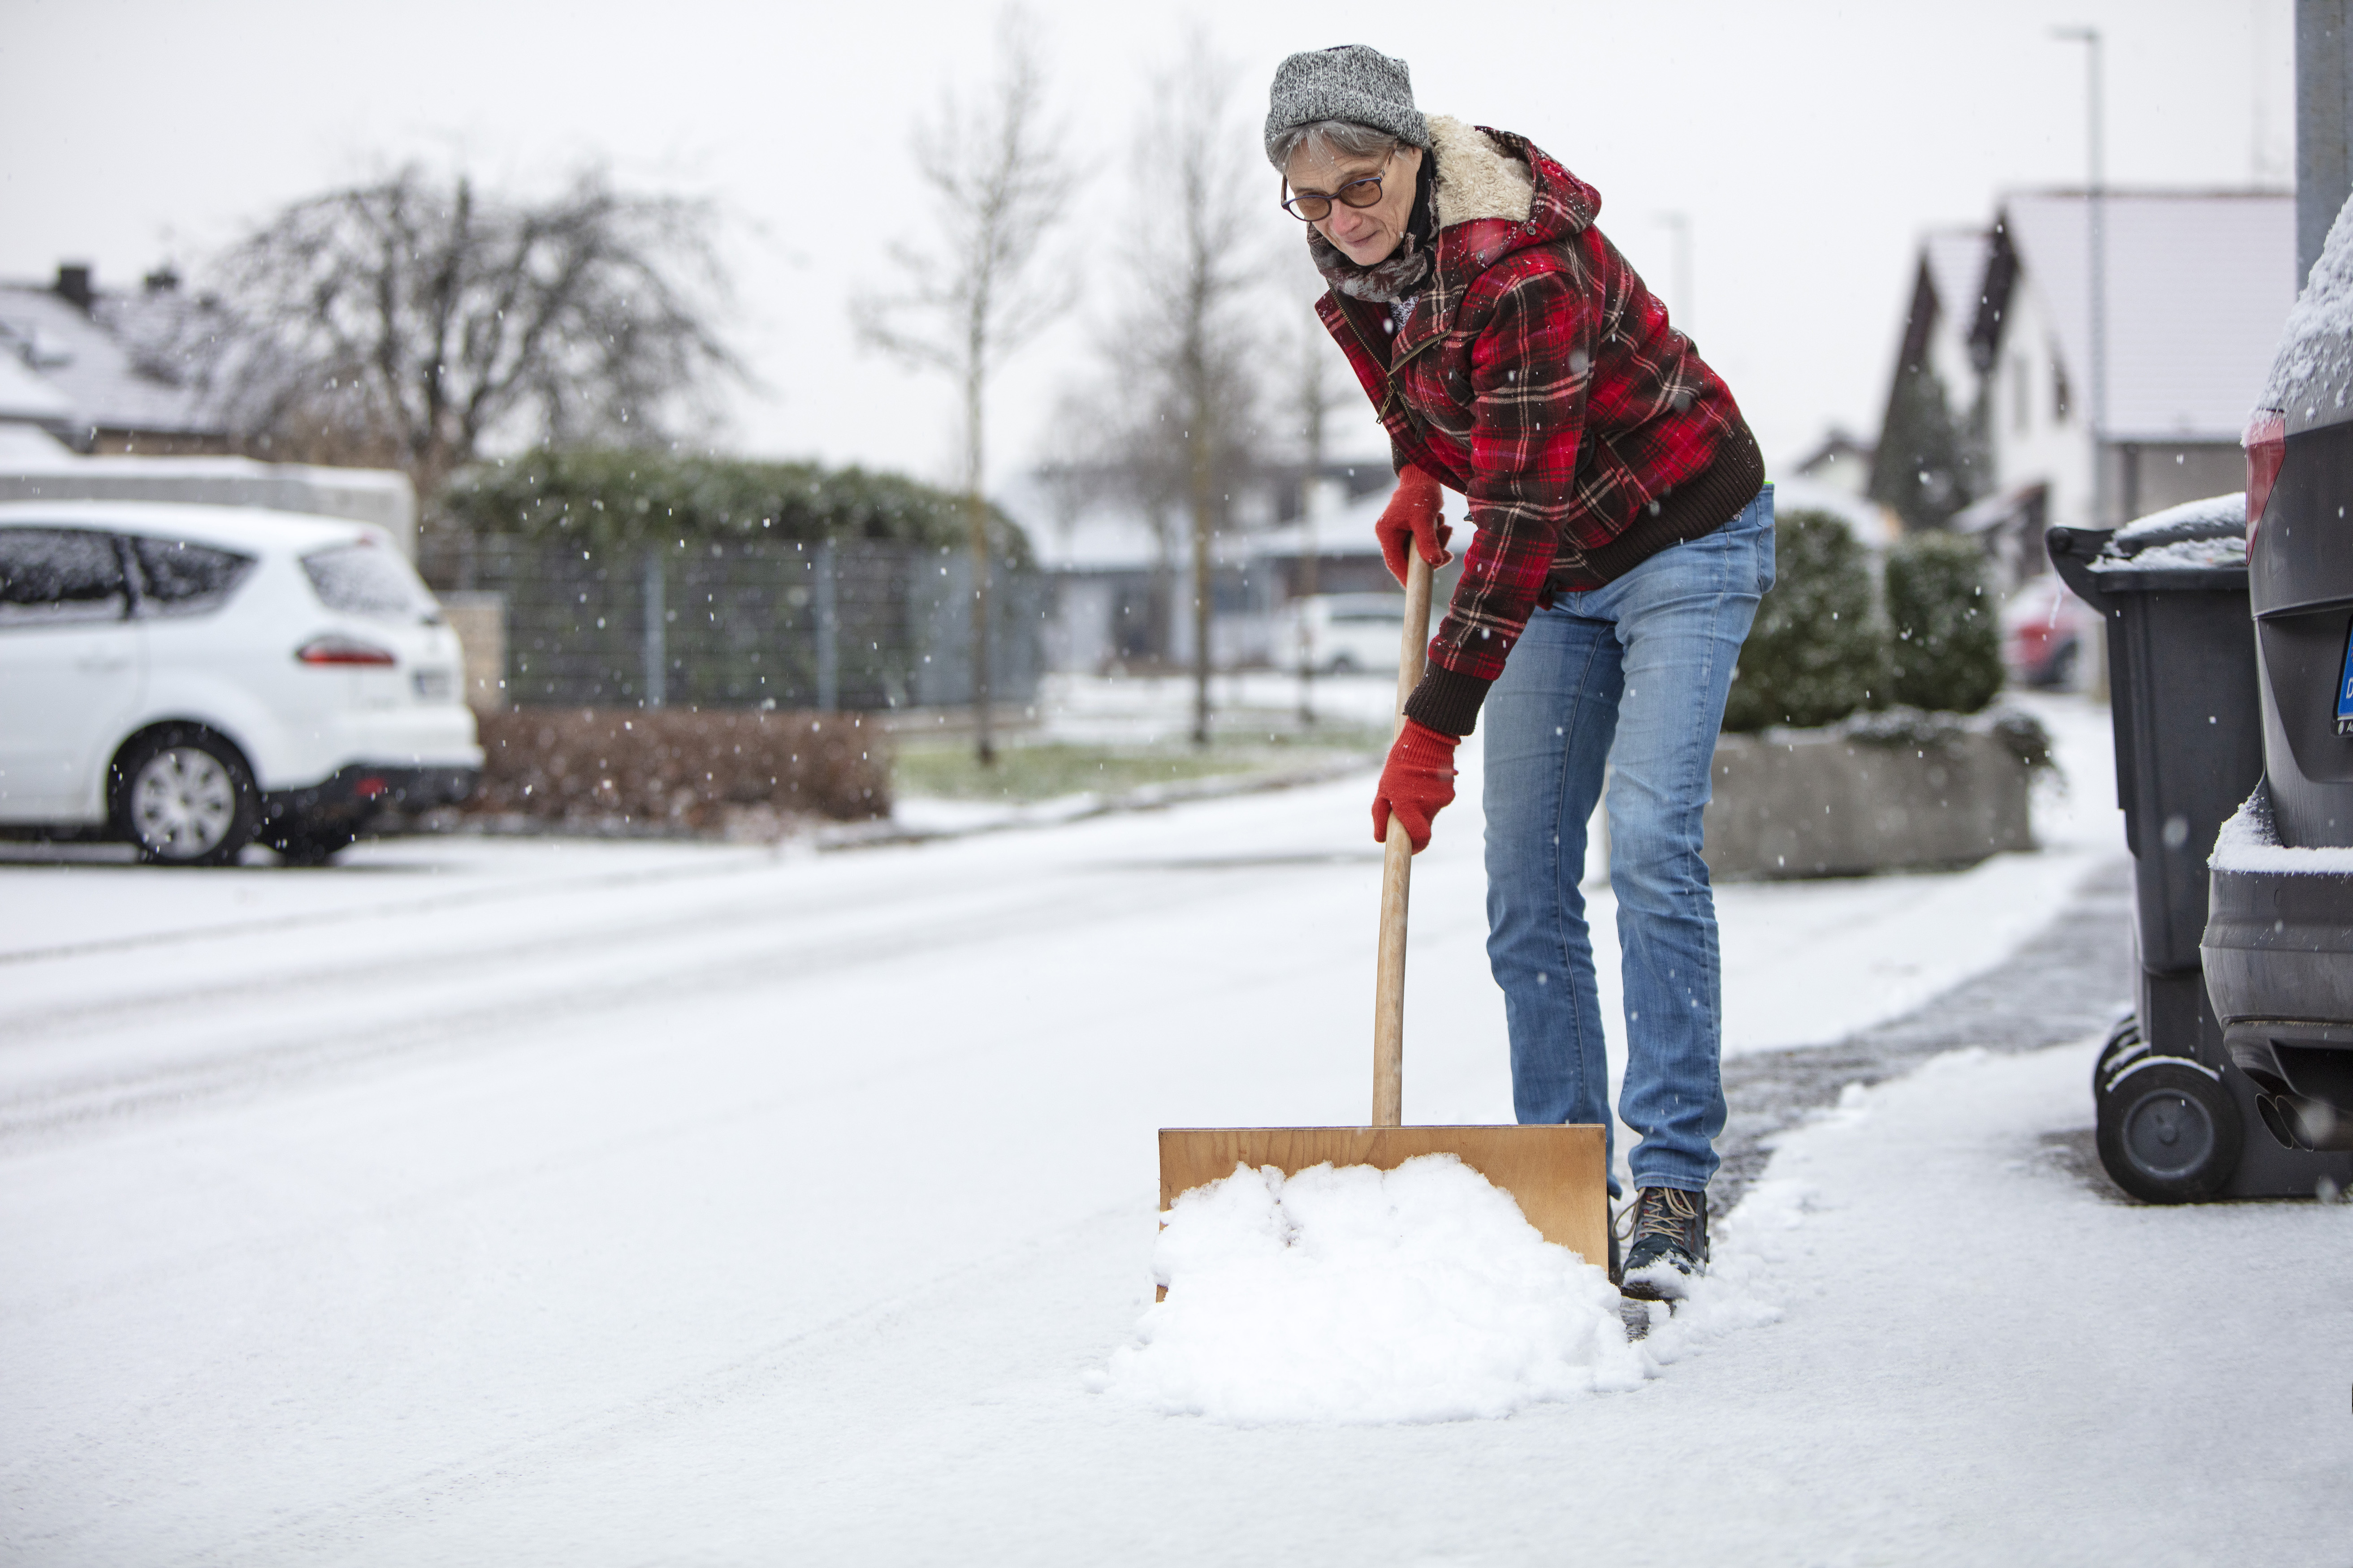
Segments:
[[[1372,804],[1414,849],[1487,715],[1487,954],[1520,1124],[1609,1124],[1586,820],[1609,788],[1626,954],[1626,1295],[1706,1267],[1725,1126],[1715,900],[1699,858],[1725,693],[1772,585],[1772,487],[1732,393],[1593,226],[1600,195],[1525,136],[1426,118],[1405,61],[1351,45],[1275,71],[1266,155],[1329,289],[1315,310],[1393,444],[1377,531],[1475,536]],[[1609,1182],[1619,1197],[1617,1178]]]

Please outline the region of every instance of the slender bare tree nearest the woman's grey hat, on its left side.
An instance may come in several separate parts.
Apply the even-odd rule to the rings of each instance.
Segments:
[[[1132,308],[1118,329],[1115,369],[1155,440],[1174,433],[1193,534],[1193,743],[1209,743],[1212,545],[1233,477],[1252,465],[1261,331],[1249,313],[1259,282],[1249,193],[1257,136],[1233,113],[1233,68],[1195,33],[1184,61],[1155,82],[1136,129]]]

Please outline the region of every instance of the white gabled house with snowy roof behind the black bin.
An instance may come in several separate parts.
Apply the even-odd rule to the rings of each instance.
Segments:
[[[1965,437],[1955,480],[1969,503],[1951,527],[1984,534],[2014,576],[2042,569],[2047,524],[2115,527],[2238,489],[2238,437],[2294,303],[2294,195],[2099,200],[2106,411],[2097,430],[2092,197],[2017,193],[1988,230],[1920,242],[1873,491],[1937,480],[1918,440],[1889,440],[1918,376],[1934,376]],[[2094,465],[2106,484],[2094,484]]]

